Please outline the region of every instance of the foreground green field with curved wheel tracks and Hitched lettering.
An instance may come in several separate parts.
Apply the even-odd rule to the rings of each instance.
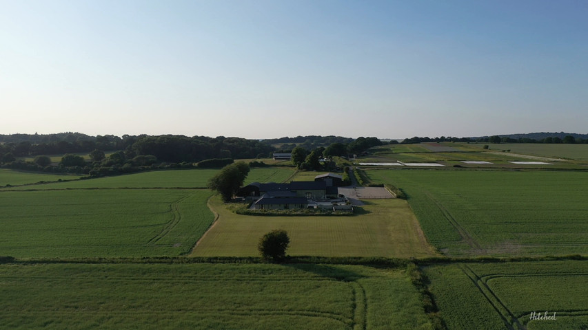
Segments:
[[[587,329],[588,263],[535,261],[427,267],[449,329]],[[556,320],[531,320],[531,313]]]

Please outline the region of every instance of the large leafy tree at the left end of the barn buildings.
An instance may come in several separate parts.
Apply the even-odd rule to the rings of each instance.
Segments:
[[[249,174],[249,165],[245,162],[227,165],[208,180],[208,188],[219,192],[223,201],[230,201],[237,190],[243,186],[247,174]]]

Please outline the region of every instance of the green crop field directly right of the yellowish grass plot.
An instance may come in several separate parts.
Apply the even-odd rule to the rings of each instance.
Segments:
[[[451,256],[588,253],[588,173],[367,170],[394,184],[425,235]]]

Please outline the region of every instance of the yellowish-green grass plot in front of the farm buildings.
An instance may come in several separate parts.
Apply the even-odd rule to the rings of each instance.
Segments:
[[[192,256],[258,256],[258,239],[283,229],[292,256],[433,256],[414,215],[402,199],[372,200],[363,213],[341,217],[267,217],[230,212],[211,199],[219,219],[196,245]]]

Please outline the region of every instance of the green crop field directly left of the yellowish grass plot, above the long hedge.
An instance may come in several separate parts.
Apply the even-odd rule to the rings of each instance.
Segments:
[[[0,192],[0,250],[15,257],[177,256],[214,220],[208,190]]]

